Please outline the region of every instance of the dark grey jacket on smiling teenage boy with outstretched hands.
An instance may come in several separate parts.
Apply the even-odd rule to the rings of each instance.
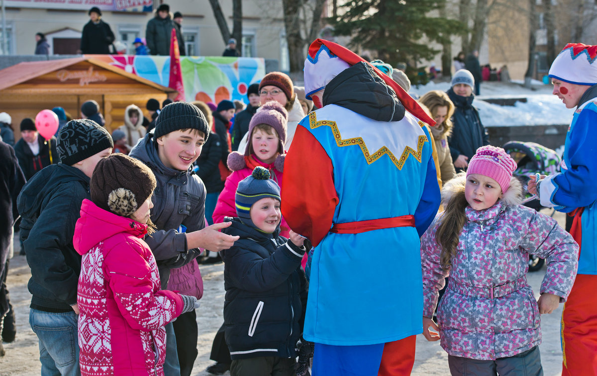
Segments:
[[[146,241],[158,262],[162,288],[166,288],[170,269],[180,268],[201,253],[199,248],[187,249],[186,232],[205,228],[205,185],[192,170],[178,171],[164,166],[153,142],[153,132],[147,133],[129,154],[143,161],[155,174],[158,183],[153,191],[151,220],[158,231],[146,235]]]

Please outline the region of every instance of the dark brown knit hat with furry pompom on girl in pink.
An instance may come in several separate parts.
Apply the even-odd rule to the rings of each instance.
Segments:
[[[155,175],[141,161],[122,153],[100,159],[91,174],[91,201],[101,209],[130,217],[153,193]]]

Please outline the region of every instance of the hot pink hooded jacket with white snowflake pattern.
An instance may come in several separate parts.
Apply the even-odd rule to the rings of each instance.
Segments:
[[[73,245],[82,375],[163,375],[164,325],[180,315],[179,294],[160,289],[147,226],[83,200]]]

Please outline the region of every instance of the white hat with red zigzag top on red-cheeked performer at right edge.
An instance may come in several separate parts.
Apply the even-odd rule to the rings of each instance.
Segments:
[[[597,83],[597,46],[568,43],[553,60],[549,77],[576,85]]]

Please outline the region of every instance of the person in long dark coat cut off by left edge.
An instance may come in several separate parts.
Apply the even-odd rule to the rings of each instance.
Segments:
[[[4,315],[9,310],[6,276],[8,273],[8,251],[13,238],[13,222],[17,213],[17,195],[25,184],[25,177],[19,167],[13,148],[0,141],[0,332]],[[0,341],[0,356],[4,347]]]

